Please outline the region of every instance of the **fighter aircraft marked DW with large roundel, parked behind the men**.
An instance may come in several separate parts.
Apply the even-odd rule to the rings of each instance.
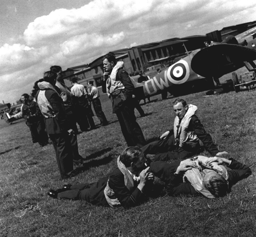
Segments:
[[[256,50],[241,46],[216,43],[192,51],[166,70],[146,82],[132,79],[138,98],[153,96],[168,90],[173,96],[214,89],[213,77],[235,71],[243,66],[256,69]]]

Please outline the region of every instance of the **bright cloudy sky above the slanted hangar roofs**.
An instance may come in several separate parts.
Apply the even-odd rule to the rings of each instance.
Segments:
[[[256,20],[255,0],[1,0],[0,103],[63,70],[126,47]]]

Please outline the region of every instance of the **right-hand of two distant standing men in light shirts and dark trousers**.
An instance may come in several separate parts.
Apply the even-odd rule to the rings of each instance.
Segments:
[[[104,114],[104,112],[102,111],[101,108],[101,101],[100,101],[100,92],[99,90],[94,86],[94,82],[93,81],[89,81],[88,83],[88,94],[89,94],[89,99],[90,101],[93,102],[93,106],[94,106],[94,111],[95,114],[97,115],[98,119],[101,122],[102,126],[106,126],[108,125],[108,120]]]

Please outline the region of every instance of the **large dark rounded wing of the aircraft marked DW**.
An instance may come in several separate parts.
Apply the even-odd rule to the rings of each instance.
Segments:
[[[256,50],[241,45],[220,44],[203,48],[195,54],[191,68],[202,77],[222,77],[256,60]]]

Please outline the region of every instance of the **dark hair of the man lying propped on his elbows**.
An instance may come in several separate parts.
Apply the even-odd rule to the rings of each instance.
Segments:
[[[127,147],[120,155],[120,161],[130,167],[132,162],[137,162],[144,155],[140,147]]]

